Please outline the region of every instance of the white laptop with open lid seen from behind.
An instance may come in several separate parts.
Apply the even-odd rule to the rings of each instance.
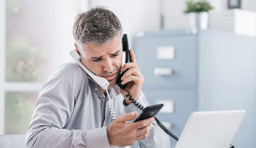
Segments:
[[[245,110],[193,112],[174,148],[228,148]]]

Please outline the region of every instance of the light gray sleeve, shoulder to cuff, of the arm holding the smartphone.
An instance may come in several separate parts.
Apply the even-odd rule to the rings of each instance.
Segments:
[[[106,127],[88,131],[64,129],[81,88],[79,81],[79,67],[66,63],[57,68],[44,82],[26,133],[26,148],[110,147]],[[95,139],[101,142],[96,143]]]

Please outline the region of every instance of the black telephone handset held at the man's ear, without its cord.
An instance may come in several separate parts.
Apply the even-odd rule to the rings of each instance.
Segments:
[[[130,42],[129,42],[129,38],[128,38],[127,34],[123,35],[122,43],[123,43],[123,51],[125,52],[125,63],[131,62],[131,56],[130,56],[130,51],[129,51],[131,49],[131,46],[130,46]],[[124,84],[124,85],[121,84],[121,82],[122,82],[121,77],[124,75],[124,73],[127,70],[129,70],[129,69],[126,69],[124,72],[121,72],[121,74],[117,78],[117,85],[120,88],[125,88],[126,84]]]

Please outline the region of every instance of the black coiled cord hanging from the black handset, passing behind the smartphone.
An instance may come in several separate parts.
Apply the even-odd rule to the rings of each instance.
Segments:
[[[124,88],[122,88],[123,90],[125,90]],[[141,104],[137,103],[137,101],[134,101],[134,98],[132,98],[132,96],[130,95],[130,92],[128,90],[125,90],[127,91],[128,95],[126,95],[126,97],[129,97],[128,99],[130,101],[132,101],[132,103],[134,103],[134,105],[136,105],[138,108],[140,108],[142,111],[145,109],[144,106],[142,106]],[[168,135],[170,135],[173,139],[175,139],[176,141],[179,140],[179,138],[174,135],[171,131],[169,131],[161,121],[159,121],[159,119],[157,117],[155,117],[155,120],[156,120],[156,123],[164,130],[164,132]]]

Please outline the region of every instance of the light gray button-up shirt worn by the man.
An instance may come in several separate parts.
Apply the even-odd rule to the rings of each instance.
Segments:
[[[109,89],[109,96],[116,116],[132,111],[136,111],[137,116],[141,113],[133,103],[124,105],[117,85]],[[26,148],[110,147],[106,132],[112,121],[108,100],[74,61],[61,65],[42,85],[27,130]],[[145,107],[149,105],[142,92],[137,102]],[[149,135],[140,140],[139,145],[143,148],[170,147],[168,135],[155,121]]]

